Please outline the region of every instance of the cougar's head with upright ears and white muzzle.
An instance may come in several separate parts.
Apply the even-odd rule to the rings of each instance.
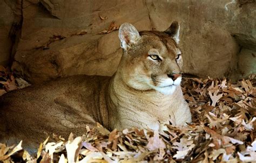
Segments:
[[[130,23],[119,28],[124,54],[119,65],[123,81],[137,90],[171,95],[181,82],[183,60],[178,47],[179,23],[164,32],[138,32]]]

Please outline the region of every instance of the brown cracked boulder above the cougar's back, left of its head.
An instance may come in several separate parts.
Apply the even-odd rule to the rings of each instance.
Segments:
[[[112,21],[151,30],[143,1],[24,3],[22,35],[12,68],[34,83],[75,74],[111,76],[122,56],[118,32],[98,33]]]

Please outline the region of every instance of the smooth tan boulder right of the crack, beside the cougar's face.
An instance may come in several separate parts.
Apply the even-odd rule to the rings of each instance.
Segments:
[[[181,22],[184,72],[223,77],[237,72],[241,46],[255,48],[255,3],[223,1],[149,1],[154,29]],[[234,76],[234,75],[233,75]]]

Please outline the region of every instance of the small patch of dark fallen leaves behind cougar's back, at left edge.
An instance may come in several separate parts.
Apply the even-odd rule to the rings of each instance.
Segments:
[[[8,91],[22,89],[30,86],[28,82],[22,78],[15,78],[14,73],[9,68],[0,65],[0,96]]]

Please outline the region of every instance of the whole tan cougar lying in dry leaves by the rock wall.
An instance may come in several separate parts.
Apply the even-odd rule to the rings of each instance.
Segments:
[[[180,88],[179,24],[164,32],[119,29],[124,54],[112,77],[76,75],[0,98],[0,142],[29,146],[56,133],[82,135],[96,122],[108,129],[183,126],[191,113]]]

